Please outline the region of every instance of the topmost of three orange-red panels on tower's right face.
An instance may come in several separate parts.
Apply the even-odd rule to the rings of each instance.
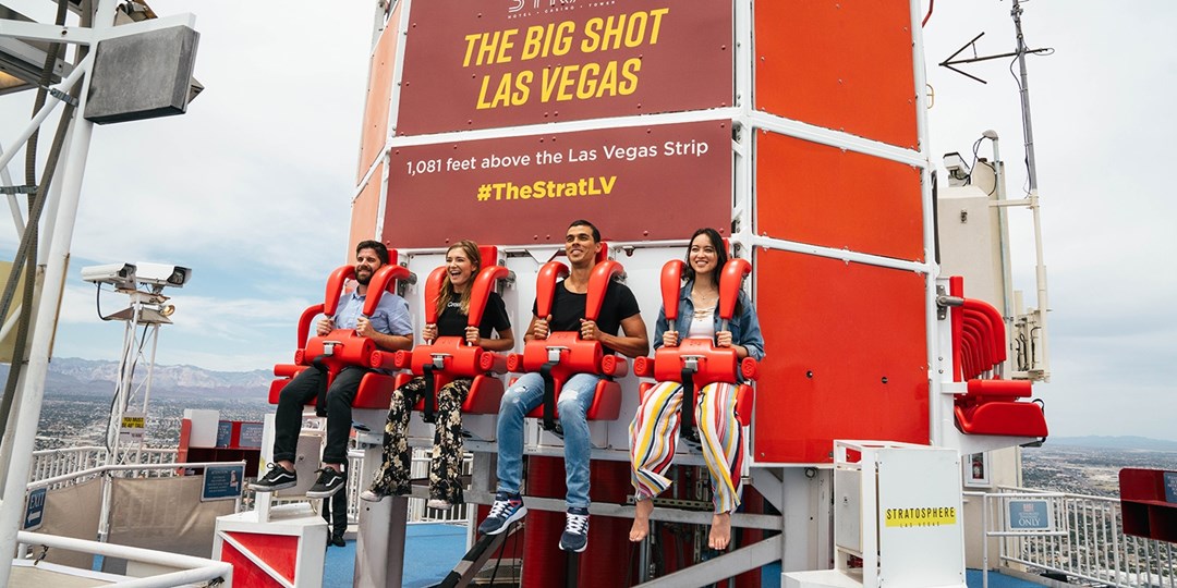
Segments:
[[[757,0],[754,11],[757,109],[917,148],[907,2]]]

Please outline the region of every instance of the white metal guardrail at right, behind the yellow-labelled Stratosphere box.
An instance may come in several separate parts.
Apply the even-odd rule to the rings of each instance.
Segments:
[[[1177,588],[1177,548],[1125,535],[1119,499],[1015,487],[965,494],[984,497],[984,532],[999,537],[998,557],[1005,566],[1020,564],[1104,586]],[[1052,532],[1011,527],[1010,509],[1020,506],[1015,501],[1044,501]]]

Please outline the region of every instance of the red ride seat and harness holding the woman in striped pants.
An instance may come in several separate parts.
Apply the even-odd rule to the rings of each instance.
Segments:
[[[674,320],[678,318],[679,289],[685,266],[683,260],[671,260],[663,266],[663,308],[671,329],[674,328]],[[724,265],[719,275],[719,318],[723,321],[720,330],[727,329],[729,321],[736,314],[740,283],[751,272],[752,265],[744,259],[731,259]],[[699,432],[694,427],[694,397],[698,390],[714,382],[736,385],[736,419],[742,426],[747,427],[752,419],[752,406],[756,403],[756,390],[749,383],[742,383],[740,376],[745,380],[756,380],[758,372],[759,366],[754,359],[744,358],[740,361],[736,349],[716,347],[711,339],[681,339],[677,347],[659,347],[653,359],[638,358],[633,362],[633,373],[639,376],[683,385],[679,435],[692,443],[699,442]],[[643,382],[638,387],[639,396],[644,399],[652,387],[653,383]]]

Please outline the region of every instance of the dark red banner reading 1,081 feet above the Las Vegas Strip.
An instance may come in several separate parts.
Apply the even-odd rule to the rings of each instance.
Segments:
[[[407,248],[553,245],[576,219],[612,240],[726,234],[731,181],[730,121],[399,147],[384,235]]]

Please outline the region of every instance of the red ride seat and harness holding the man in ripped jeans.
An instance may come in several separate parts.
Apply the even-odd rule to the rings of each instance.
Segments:
[[[601,252],[604,250],[606,249],[601,248]],[[585,300],[586,319],[592,321],[598,319],[610,280],[623,272],[620,263],[607,259],[598,261],[593,267]],[[536,310],[539,316],[551,314],[557,280],[567,275],[567,266],[559,261],[548,261],[539,269],[536,279]],[[613,381],[613,377],[625,376],[630,365],[619,355],[606,354],[600,341],[580,339],[579,330],[559,330],[548,333],[547,339],[527,341],[523,354],[511,354],[507,358],[507,369],[543,375],[544,402],[527,416],[543,417],[545,429],[559,433],[556,399],[559,397],[560,389],[568,377],[574,374],[605,376],[597,382],[586,416],[590,421],[612,421],[617,420],[621,410],[621,387]]]

